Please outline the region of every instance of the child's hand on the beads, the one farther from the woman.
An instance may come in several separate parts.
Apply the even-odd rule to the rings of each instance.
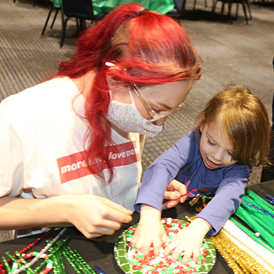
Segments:
[[[173,251],[171,260],[176,262],[179,255],[184,252],[184,258],[181,261],[182,264],[187,264],[190,258],[193,256],[193,260],[197,262],[200,256],[200,248],[203,243],[203,238],[212,229],[212,226],[208,221],[196,218],[188,225],[188,227],[182,229],[173,242],[169,243],[164,249],[164,256],[167,257]]]

